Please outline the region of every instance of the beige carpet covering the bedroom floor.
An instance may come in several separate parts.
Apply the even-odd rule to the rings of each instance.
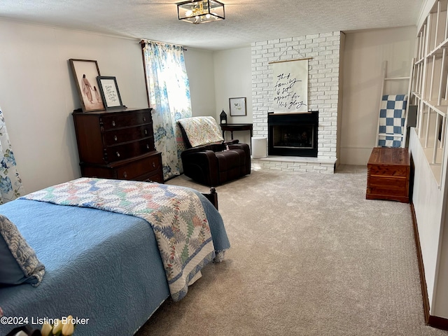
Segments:
[[[448,335],[424,323],[409,204],[365,200],[365,186],[358,166],[219,186],[225,261],[137,335]]]

